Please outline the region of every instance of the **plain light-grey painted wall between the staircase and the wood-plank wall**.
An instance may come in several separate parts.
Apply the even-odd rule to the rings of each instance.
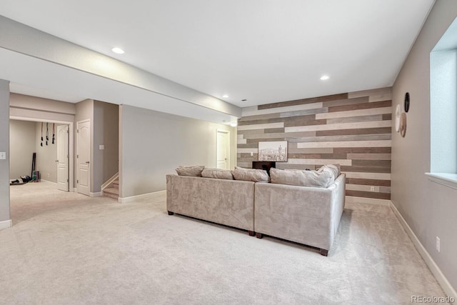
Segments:
[[[208,121],[121,105],[119,112],[121,198],[166,189],[166,174],[179,165],[216,167],[216,131],[231,134],[236,164],[236,129]]]

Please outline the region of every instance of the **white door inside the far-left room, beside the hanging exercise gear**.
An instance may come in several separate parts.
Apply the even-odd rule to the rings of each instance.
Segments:
[[[69,126],[57,126],[57,188],[69,191]]]

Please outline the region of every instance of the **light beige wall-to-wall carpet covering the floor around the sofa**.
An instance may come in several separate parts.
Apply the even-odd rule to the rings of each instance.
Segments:
[[[119,204],[11,186],[0,304],[409,304],[444,296],[387,206],[346,204],[333,249]]]

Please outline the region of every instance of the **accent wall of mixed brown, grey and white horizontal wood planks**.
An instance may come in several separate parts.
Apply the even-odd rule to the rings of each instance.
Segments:
[[[391,126],[391,87],[246,107],[237,163],[251,168],[259,141],[288,141],[278,169],[340,164],[347,196],[391,199]]]

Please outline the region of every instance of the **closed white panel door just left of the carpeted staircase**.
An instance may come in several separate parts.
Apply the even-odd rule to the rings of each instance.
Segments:
[[[78,193],[89,196],[91,191],[91,122],[79,121],[76,125],[76,162]]]

